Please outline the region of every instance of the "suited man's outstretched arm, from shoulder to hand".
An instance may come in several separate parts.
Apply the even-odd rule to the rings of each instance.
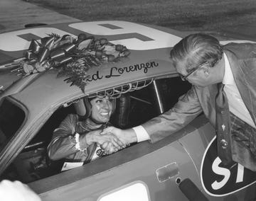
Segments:
[[[151,142],[157,142],[181,130],[202,111],[201,104],[196,95],[196,89],[192,87],[188,93],[179,98],[174,108],[171,108],[166,113],[128,130],[108,127],[102,134],[113,133],[125,144],[142,142],[147,139],[150,139]]]

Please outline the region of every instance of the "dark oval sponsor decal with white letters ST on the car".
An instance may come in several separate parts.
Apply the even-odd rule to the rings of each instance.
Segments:
[[[239,163],[223,165],[217,153],[217,139],[213,137],[201,163],[201,183],[206,193],[215,197],[230,195],[255,182],[256,173]]]

